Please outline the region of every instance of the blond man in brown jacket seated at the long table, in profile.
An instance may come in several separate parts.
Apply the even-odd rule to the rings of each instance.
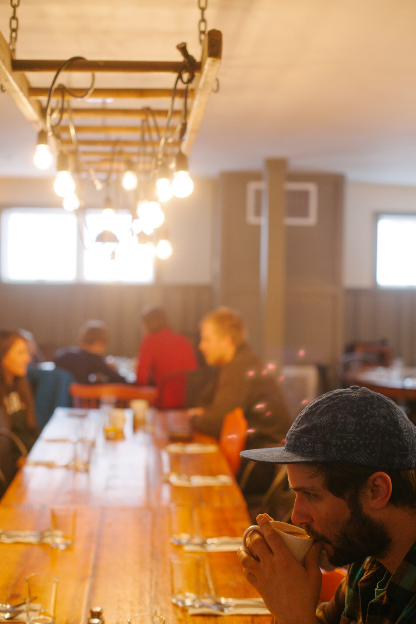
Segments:
[[[218,439],[226,414],[241,407],[248,422],[246,449],[276,446],[290,426],[288,409],[274,381],[276,367],[264,366],[247,343],[243,319],[229,308],[206,314],[200,330],[200,351],[216,372],[202,392],[198,407],[188,410],[193,428]],[[241,462],[240,475],[245,466],[246,461]],[[247,491],[253,487],[253,491],[259,492],[262,483],[256,481],[263,480],[266,488],[273,478],[269,466],[258,466]],[[264,479],[259,479],[261,470],[265,471]]]

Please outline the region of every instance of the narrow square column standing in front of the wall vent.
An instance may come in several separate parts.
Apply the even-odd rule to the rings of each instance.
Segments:
[[[264,162],[265,190],[260,235],[260,292],[263,358],[280,368],[284,348],[286,232],[284,228],[286,160]]]

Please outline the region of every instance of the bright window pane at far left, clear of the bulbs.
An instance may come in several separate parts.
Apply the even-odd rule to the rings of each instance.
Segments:
[[[2,280],[74,281],[76,275],[75,215],[51,208],[2,212]]]

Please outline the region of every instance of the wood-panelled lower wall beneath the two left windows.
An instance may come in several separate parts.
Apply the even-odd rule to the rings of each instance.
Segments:
[[[141,338],[140,310],[160,305],[175,331],[196,347],[198,323],[213,307],[210,285],[7,284],[0,283],[0,327],[28,329],[47,359],[55,349],[76,344],[88,319],[105,321],[108,353],[134,356]]]

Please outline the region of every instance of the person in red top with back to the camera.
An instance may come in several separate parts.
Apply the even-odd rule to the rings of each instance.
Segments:
[[[138,348],[137,384],[156,386],[158,407],[183,407],[186,371],[198,368],[190,341],[170,329],[167,314],[162,308],[143,310],[142,329],[144,338]]]

